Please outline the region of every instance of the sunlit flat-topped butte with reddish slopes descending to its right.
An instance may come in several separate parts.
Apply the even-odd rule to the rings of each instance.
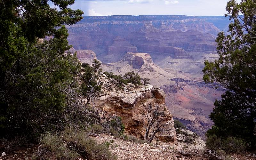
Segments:
[[[205,132],[213,124],[208,115],[222,91],[207,86],[200,79],[189,78],[187,73],[158,67],[147,53],[126,53],[122,60],[103,64],[102,68],[116,75],[134,71],[142,78],[149,78],[150,84],[160,85],[167,95],[166,106],[174,118],[205,138]]]

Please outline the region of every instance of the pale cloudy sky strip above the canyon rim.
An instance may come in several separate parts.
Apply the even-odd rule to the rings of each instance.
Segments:
[[[227,13],[227,2],[228,0],[75,0],[71,8],[81,9],[84,11],[84,16],[215,16]]]

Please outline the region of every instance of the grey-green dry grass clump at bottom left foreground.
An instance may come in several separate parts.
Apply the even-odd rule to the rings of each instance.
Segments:
[[[74,131],[67,128],[64,132],[46,133],[40,140],[38,153],[33,157],[45,157],[46,152],[52,152],[57,159],[75,159],[83,156],[86,159],[115,160],[108,147],[98,144],[93,139],[86,136],[82,130]]]

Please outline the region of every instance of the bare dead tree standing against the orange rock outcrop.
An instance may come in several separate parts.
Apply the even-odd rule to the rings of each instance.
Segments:
[[[164,111],[160,111],[158,105],[152,106],[151,103],[148,103],[146,104],[146,108],[148,114],[146,116],[146,123],[144,124],[144,128],[146,129],[144,139],[150,143],[157,132],[165,131],[168,127],[166,127],[166,124],[163,122]]]

